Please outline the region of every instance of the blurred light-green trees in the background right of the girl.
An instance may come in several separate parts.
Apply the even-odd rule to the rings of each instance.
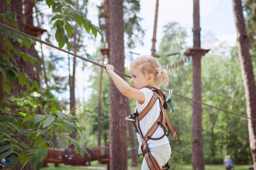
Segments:
[[[172,65],[185,56],[167,54],[182,52],[186,48],[186,33],[177,23],[164,27],[164,36],[159,46],[159,62]],[[176,42],[177,41],[177,42]],[[201,59],[202,101],[218,108],[246,116],[246,101],[242,84],[240,63],[236,47],[231,50],[225,43],[214,40],[205,42],[204,49],[210,52]],[[176,94],[192,98],[192,61],[169,71],[170,85]],[[191,163],[191,101],[172,95],[175,112],[169,114],[179,137],[170,137],[172,169]],[[222,164],[225,155],[231,155],[236,164],[249,164],[251,154],[246,118],[202,106],[203,147],[205,164]],[[241,128],[243,127],[243,128]]]

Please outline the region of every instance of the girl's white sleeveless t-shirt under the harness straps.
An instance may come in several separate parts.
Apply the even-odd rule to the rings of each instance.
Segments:
[[[143,111],[144,108],[146,108],[147,104],[150,102],[151,97],[154,95],[153,92],[148,88],[142,88],[141,91],[143,92],[143,94],[145,96],[145,101],[143,104],[139,104],[138,101],[136,101],[136,106],[137,106],[136,109],[138,110],[139,114]],[[135,112],[136,112],[136,109],[135,109]],[[159,100],[156,100],[155,104],[150,109],[150,111],[146,114],[146,116],[144,116],[142,118],[142,120],[139,121],[139,125],[141,127],[143,136],[145,136],[147,134],[147,132],[150,130],[150,128],[154,125],[155,121],[158,119],[158,117],[160,115],[160,111],[161,111],[161,109],[159,106]],[[164,131],[159,125],[158,129],[156,129],[155,133],[152,135],[152,138],[162,137],[163,133],[164,133]],[[138,142],[139,142],[139,152],[138,153],[142,154],[142,151],[141,151],[142,141],[141,141],[141,136],[139,135],[139,133],[137,133],[137,138],[138,138]],[[167,143],[169,143],[169,141],[168,141],[168,138],[166,135],[162,139],[159,139],[159,140],[149,139],[147,141],[149,148],[166,145]]]

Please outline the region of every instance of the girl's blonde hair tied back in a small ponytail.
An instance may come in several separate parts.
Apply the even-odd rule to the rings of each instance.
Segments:
[[[155,86],[164,85],[166,87],[169,82],[167,67],[161,66],[155,57],[141,56],[134,59],[130,63],[130,67],[139,69],[143,74],[152,74],[155,79]]]

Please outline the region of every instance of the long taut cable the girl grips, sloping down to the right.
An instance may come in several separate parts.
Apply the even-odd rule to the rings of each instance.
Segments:
[[[33,37],[33,36],[31,36],[31,35],[28,35],[27,33],[24,33],[24,32],[21,32],[21,31],[19,31],[19,30],[17,30],[17,29],[11,28],[11,27],[9,27],[9,26],[6,25],[6,24],[0,23],[0,27],[3,27],[3,28],[5,28],[5,29],[8,29],[9,31],[14,32],[14,33],[18,33],[19,35],[26,36],[26,37],[28,37],[28,38],[30,38],[30,39],[32,39],[32,40],[41,42],[42,44],[51,46],[52,48],[55,48],[55,49],[57,49],[57,50],[60,50],[60,51],[62,51],[62,52],[64,52],[64,53],[68,53],[68,54],[70,54],[70,55],[72,55],[72,56],[74,56],[74,57],[77,57],[77,58],[80,58],[80,59],[82,59],[82,60],[84,60],[84,61],[93,63],[94,65],[100,66],[100,67],[102,67],[102,68],[105,69],[105,66],[104,66],[104,65],[101,65],[101,64],[99,64],[99,63],[97,63],[97,62],[94,62],[94,61],[91,61],[90,59],[87,59],[87,58],[78,56],[77,54],[68,52],[67,50],[64,50],[64,49],[59,48],[59,47],[57,47],[57,46],[55,46],[55,45],[49,44],[48,42],[45,42],[45,41],[43,41],[43,40],[40,40],[40,39],[38,39],[38,38],[36,38],[36,37]],[[126,74],[124,74],[124,73],[121,73],[120,71],[114,70],[114,72],[117,73],[117,74],[121,74],[121,75],[123,75],[123,76],[126,76],[127,78],[131,78],[131,76],[126,75]],[[167,90],[164,90],[164,89],[162,89],[162,88],[161,88],[161,90],[168,92]],[[214,106],[212,106],[212,105],[202,103],[201,101],[197,101],[197,100],[190,99],[190,98],[188,98],[188,97],[185,97],[185,96],[176,94],[175,92],[172,92],[172,94],[174,94],[174,95],[176,95],[176,96],[179,96],[179,97],[183,97],[184,99],[188,99],[188,100],[191,100],[191,101],[195,101],[196,103],[200,103],[200,104],[203,104],[203,105],[207,105],[208,107],[212,107],[212,108],[218,109],[218,110],[220,110],[220,111],[224,111],[224,112],[227,112],[227,113],[235,114],[235,115],[237,115],[237,116],[241,116],[241,117],[245,117],[245,118],[250,118],[251,120],[256,121],[255,118],[243,116],[242,114],[237,114],[237,113],[234,113],[234,112],[229,112],[229,111],[226,111],[226,110],[224,110],[224,109],[217,108],[217,107],[214,107]]]

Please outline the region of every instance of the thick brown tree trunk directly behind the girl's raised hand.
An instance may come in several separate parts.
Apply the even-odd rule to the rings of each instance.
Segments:
[[[109,63],[114,65],[115,70],[125,73],[122,2],[122,0],[109,1],[111,44]],[[110,169],[112,170],[127,169],[126,100],[127,97],[123,96],[110,80],[109,144]]]

